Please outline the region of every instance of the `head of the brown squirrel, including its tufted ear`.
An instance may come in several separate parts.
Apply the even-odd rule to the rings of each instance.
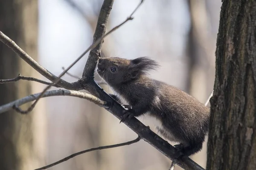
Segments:
[[[148,57],[122,59],[119,57],[100,58],[97,72],[108,84],[116,85],[140,78],[159,65]]]

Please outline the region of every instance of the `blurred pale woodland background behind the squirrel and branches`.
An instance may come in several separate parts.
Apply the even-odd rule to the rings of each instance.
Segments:
[[[103,0],[0,0],[0,31],[55,75],[92,43]],[[140,0],[116,0],[108,30]],[[206,102],[215,76],[220,0],[145,0],[134,20],[105,39],[102,57],[148,56],[160,62],[151,77]],[[86,54],[69,73],[81,77]],[[45,79],[0,43],[0,79],[18,74]],[[65,75],[69,82],[77,78]],[[98,81],[101,79],[96,76]],[[0,105],[41,92],[45,85],[0,84]],[[107,85],[102,85],[111,93]],[[52,88],[56,89],[56,88]],[[22,108],[27,108],[24,105]],[[155,130],[150,120],[140,120]],[[41,99],[32,113],[0,114],[0,170],[32,170],[91,147],[133,140],[137,134],[99,106],[74,97]],[[207,141],[206,141],[207,142]],[[206,167],[207,145],[192,156]],[[93,151],[49,170],[168,170],[171,161],[147,142]],[[176,166],[175,170],[181,170]]]

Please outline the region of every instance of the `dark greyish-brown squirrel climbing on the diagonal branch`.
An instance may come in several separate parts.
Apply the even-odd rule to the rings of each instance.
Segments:
[[[121,122],[134,116],[153,116],[160,122],[158,133],[179,143],[174,145],[175,158],[191,156],[202,149],[210,108],[172,85],[149,78],[147,74],[158,67],[149,57],[110,57],[98,60],[97,72],[117,94],[109,95],[122,105],[122,99],[128,103],[123,105],[128,110]]]

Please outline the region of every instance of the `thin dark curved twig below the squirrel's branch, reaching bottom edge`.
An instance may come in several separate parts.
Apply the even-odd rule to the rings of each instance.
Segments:
[[[81,155],[83,153],[91,152],[93,150],[102,150],[102,149],[109,149],[109,148],[113,148],[113,147],[120,147],[120,146],[129,145],[129,144],[134,144],[134,143],[139,142],[139,141],[140,141],[140,137],[137,137],[137,139],[134,139],[134,140],[129,141],[129,142],[124,142],[124,143],[120,143],[120,144],[113,144],[113,145],[108,145],[108,146],[94,147],[94,148],[91,148],[91,149],[83,150],[83,151],[80,151],[80,152],[77,152],[77,153],[73,153],[72,155],[67,156],[64,159],[61,159],[61,160],[56,161],[56,162],[54,162],[52,164],[49,164],[47,166],[44,166],[44,167],[41,167],[41,168],[38,168],[38,169],[35,169],[35,170],[45,170],[45,169],[47,169],[49,167],[53,167],[53,166],[55,166],[57,164],[60,164],[60,163],[62,163],[64,161],[67,161],[67,160],[69,160],[69,159],[71,159],[71,158],[73,158],[75,156]]]

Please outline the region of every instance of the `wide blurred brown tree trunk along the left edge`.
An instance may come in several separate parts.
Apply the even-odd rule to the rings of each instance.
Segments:
[[[29,55],[37,57],[38,1],[0,0],[0,30]],[[0,43],[0,79],[15,78],[18,74],[36,75],[32,67]],[[32,84],[0,84],[0,105],[32,94]],[[27,115],[15,111],[0,114],[0,170],[29,170],[42,165],[45,130],[41,127],[45,117],[40,117],[38,106]]]

